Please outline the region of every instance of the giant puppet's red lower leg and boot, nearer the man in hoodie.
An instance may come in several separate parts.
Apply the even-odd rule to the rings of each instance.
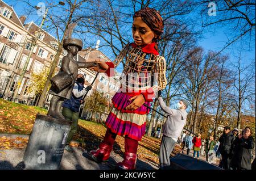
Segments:
[[[125,137],[125,155],[123,161],[117,163],[119,169],[133,170],[137,161],[138,140]]]

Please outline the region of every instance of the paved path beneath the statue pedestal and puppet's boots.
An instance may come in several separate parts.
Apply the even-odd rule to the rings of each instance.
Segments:
[[[19,134],[0,134],[0,136],[6,137],[28,137],[27,135]],[[15,167],[22,162],[25,149],[11,149],[0,150],[0,169],[16,169]],[[60,163],[60,169],[64,170],[111,170],[114,169],[115,163],[122,162],[123,158],[115,154],[114,151],[110,154],[109,163],[96,163],[86,158],[87,151],[82,148],[73,147],[73,153],[64,151],[63,158]],[[158,166],[152,165],[152,163],[137,160],[138,170],[155,170]]]

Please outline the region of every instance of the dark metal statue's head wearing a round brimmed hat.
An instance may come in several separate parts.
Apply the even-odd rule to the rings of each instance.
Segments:
[[[75,56],[82,49],[82,41],[74,38],[64,39],[63,48]]]

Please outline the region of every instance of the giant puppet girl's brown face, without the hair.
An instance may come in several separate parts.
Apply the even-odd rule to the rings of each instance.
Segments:
[[[141,17],[134,18],[133,20],[133,39],[135,44],[141,46],[152,43],[156,37],[155,33],[143,22]]]

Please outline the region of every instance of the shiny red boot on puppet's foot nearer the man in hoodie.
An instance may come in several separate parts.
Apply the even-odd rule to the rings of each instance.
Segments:
[[[122,162],[117,163],[118,169],[122,170],[134,170],[137,161],[136,153],[125,153]]]

